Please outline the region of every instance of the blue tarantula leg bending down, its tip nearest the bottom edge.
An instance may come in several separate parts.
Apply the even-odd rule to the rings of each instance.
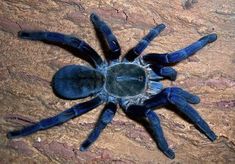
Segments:
[[[169,148],[167,141],[165,139],[160,119],[155,112],[145,106],[140,105],[130,105],[127,110],[127,114],[133,117],[146,117],[150,123],[150,128],[153,132],[153,137],[157,143],[159,149],[170,159],[175,158],[175,153]]]

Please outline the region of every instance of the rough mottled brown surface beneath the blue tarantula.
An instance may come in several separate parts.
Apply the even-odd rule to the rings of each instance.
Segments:
[[[110,24],[128,51],[155,24],[167,29],[145,53],[182,48],[216,32],[218,40],[174,68],[176,82],[200,96],[197,111],[219,136],[211,143],[169,109],[159,109],[176,158],[169,160],[138,123],[118,111],[88,152],[79,145],[91,131],[102,106],[62,126],[8,140],[9,130],[53,116],[78,101],[57,98],[53,74],[67,64],[85,64],[65,50],[19,40],[21,29],[74,34],[100,54],[92,12]],[[1,0],[0,1],[0,163],[235,163],[235,1],[234,0]]]

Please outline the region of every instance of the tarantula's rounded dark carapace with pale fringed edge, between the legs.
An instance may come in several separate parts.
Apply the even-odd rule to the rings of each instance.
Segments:
[[[115,97],[138,95],[145,85],[145,71],[138,65],[121,63],[107,69],[105,89]]]

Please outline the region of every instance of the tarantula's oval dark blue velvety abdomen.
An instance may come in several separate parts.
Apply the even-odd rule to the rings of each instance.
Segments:
[[[102,90],[104,76],[93,68],[69,65],[55,74],[52,85],[55,93],[62,98],[84,98]]]

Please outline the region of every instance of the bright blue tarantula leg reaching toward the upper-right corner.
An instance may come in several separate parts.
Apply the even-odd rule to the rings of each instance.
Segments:
[[[180,62],[193,55],[194,53],[205,47],[207,44],[214,42],[216,39],[216,34],[209,34],[181,50],[166,54],[147,54],[143,56],[143,60],[144,62],[150,64],[173,64],[176,62]]]

